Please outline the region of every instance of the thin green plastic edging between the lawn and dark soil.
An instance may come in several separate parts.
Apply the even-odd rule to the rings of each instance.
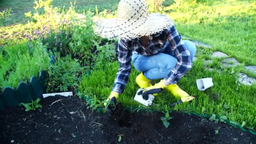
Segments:
[[[124,110],[129,110],[129,111],[136,111],[136,110],[142,110],[142,111],[147,111],[148,109],[146,109],[146,108],[138,108],[138,107],[126,107],[126,108],[124,108]],[[151,109],[153,112],[160,112],[160,111],[158,111],[158,110],[155,110],[155,109]],[[181,111],[181,113],[184,113],[184,114],[188,114],[188,115],[196,115],[196,116],[199,116],[199,117],[203,117],[203,118],[205,118],[205,119],[208,119],[208,118],[210,118],[211,117],[211,115],[206,115],[206,114],[198,114],[198,113],[195,113],[195,112],[182,112]],[[221,118],[220,118],[220,116],[218,116],[218,115],[216,115],[216,119],[218,119],[218,120],[221,120]],[[233,121],[231,121],[231,120],[224,120],[224,123],[227,123],[227,124],[229,124],[229,125],[232,125],[233,127],[235,127],[235,128],[240,128],[242,131],[244,131],[244,132],[250,132],[250,133],[252,133],[253,135],[256,135],[256,133],[254,132],[254,131],[252,131],[252,130],[247,130],[247,129],[245,129],[245,128],[243,128],[242,127],[242,125],[240,125],[240,124],[238,124],[238,123],[236,123],[236,122],[233,122]]]

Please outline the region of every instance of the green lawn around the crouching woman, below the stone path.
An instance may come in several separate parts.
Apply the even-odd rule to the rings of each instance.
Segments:
[[[224,69],[224,71],[221,71],[220,59],[214,59],[213,72],[206,70],[204,68],[204,59],[211,52],[212,50],[199,48],[198,60],[194,63],[194,67],[178,83],[189,94],[198,96],[197,100],[191,104],[180,104],[171,108],[169,104],[179,99],[175,99],[168,91],[163,91],[160,96],[156,97],[153,105],[149,108],[196,112],[209,115],[226,115],[229,120],[238,123],[245,121],[247,127],[255,127],[256,100],[254,95],[256,93],[256,85],[251,87],[239,86],[235,75],[239,68],[234,70],[234,75],[230,74],[232,70]],[[118,62],[107,64],[104,67],[104,69],[94,70],[91,75],[85,75],[83,77],[79,86],[79,90],[83,95],[96,96],[100,100],[104,100],[109,96],[118,70]],[[119,97],[119,101],[125,107],[146,108],[138,102],[133,101],[133,96],[139,88],[135,83],[135,78],[138,74],[139,72],[133,68],[125,91]],[[203,77],[212,77],[214,86],[206,91],[198,91],[196,79]]]

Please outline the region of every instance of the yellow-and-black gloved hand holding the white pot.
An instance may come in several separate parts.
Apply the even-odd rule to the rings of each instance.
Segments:
[[[163,88],[166,88],[167,85],[165,85],[165,83],[163,82],[163,80],[161,80],[159,83],[156,83],[155,85],[148,87],[148,88],[144,88],[142,90],[142,97],[145,100],[149,99],[149,94],[155,94],[155,93],[160,93],[160,91],[163,90]]]

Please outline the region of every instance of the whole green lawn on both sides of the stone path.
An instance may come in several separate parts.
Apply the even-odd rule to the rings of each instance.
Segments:
[[[256,2],[254,1],[200,1],[195,4],[184,3],[183,6],[172,5],[166,7],[167,13],[176,21],[176,27],[181,35],[201,41],[213,48],[198,48],[193,68],[179,82],[182,89],[191,95],[198,96],[192,104],[180,104],[174,108],[168,105],[174,99],[168,92],[158,96],[150,108],[158,110],[180,110],[197,112],[200,114],[216,114],[227,116],[229,120],[246,127],[256,126],[256,85],[245,86],[237,83],[237,74],[244,72],[251,77],[256,77],[244,70],[245,65],[256,65]],[[221,59],[211,58],[214,51],[222,51],[230,57],[235,57],[242,65],[226,69],[221,67]],[[208,71],[204,67],[205,60],[213,60]],[[80,84],[80,91],[88,96],[98,99],[106,98],[112,89],[115,74],[118,69],[117,62],[107,65],[105,69],[95,70],[91,75],[85,76]],[[138,90],[135,83],[136,69],[132,70],[125,92],[120,96],[125,106],[144,108],[133,101],[133,96]],[[198,91],[196,79],[212,77],[214,86],[206,91]]]

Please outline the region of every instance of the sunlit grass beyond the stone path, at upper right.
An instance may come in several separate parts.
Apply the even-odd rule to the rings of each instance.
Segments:
[[[211,45],[245,64],[256,65],[256,2],[228,0],[190,5],[168,15],[184,36]]]

